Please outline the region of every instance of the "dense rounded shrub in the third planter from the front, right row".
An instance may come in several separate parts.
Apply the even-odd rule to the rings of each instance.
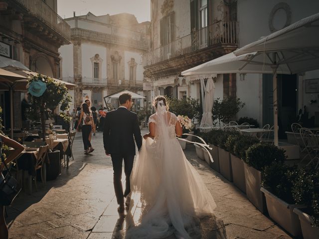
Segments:
[[[263,171],[265,166],[269,166],[274,161],[283,161],[285,158],[283,149],[273,144],[259,142],[247,149],[245,162],[248,166]]]

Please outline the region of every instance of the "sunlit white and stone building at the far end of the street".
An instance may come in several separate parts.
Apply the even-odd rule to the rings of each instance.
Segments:
[[[61,72],[64,81],[77,84],[70,91],[73,106],[80,106],[84,97],[92,106],[106,106],[104,97],[129,90],[143,95],[142,57],[149,49],[150,22],[138,23],[132,14],[86,15],[65,19],[71,26],[72,44],[62,46]],[[110,105],[117,107],[117,100]],[[136,107],[143,107],[137,101]]]

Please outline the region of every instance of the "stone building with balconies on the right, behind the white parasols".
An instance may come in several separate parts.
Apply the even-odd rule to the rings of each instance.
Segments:
[[[180,72],[280,30],[319,12],[313,0],[152,0],[151,51],[144,56],[145,75],[154,95],[201,99],[200,82],[213,77],[215,98],[236,96],[245,103],[237,118],[252,117],[273,124],[272,76],[220,74],[182,77]],[[319,92],[307,92],[307,80],[318,71],[279,75],[281,132],[289,130],[299,109],[317,114]],[[203,85],[203,84],[202,84]],[[153,93],[154,91],[154,93]],[[312,103],[310,103],[312,102]],[[317,112],[317,113],[316,113]]]

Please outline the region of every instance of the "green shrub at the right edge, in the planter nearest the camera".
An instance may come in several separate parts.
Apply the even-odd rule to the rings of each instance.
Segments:
[[[292,193],[297,204],[305,204],[311,210],[313,226],[319,227],[319,172],[316,169],[301,169]]]

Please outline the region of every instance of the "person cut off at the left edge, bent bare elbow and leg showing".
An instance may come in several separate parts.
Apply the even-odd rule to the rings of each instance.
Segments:
[[[2,147],[4,144],[10,148],[13,148],[13,150],[10,150],[10,152],[7,154],[7,157],[3,160]],[[15,159],[24,150],[24,147],[18,142],[14,141],[13,139],[10,139],[0,134],[0,148],[1,148],[1,152],[0,152],[1,154],[0,185],[1,185],[4,182],[2,171],[3,171],[3,168],[5,167],[5,164],[8,164],[13,159]],[[4,206],[1,205],[1,200],[0,200],[0,239],[7,239],[7,238],[8,238],[8,228],[6,226],[5,219],[4,219]]]

